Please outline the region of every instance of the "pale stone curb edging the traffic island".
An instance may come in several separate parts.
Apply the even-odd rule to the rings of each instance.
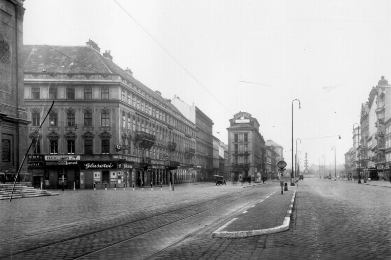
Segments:
[[[215,232],[212,233],[212,238],[246,238],[246,237],[254,237],[254,236],[260,236],[260,235],[266,235],[266,234],[272,234],[272,233],[278,233],[283,232],[289,229],[289,225],[291,222],[291,215],[292,215],[292,209],[293,204],[295,201],[296,191],[293,192],[290,205],[288,207],[288,211],[285,214],[284,222],[280,226],[266,228],[266,229],[257,229],[257,230],[246,230],[246,231],[234,231],[234,232],[225,232],[221,231],[226,226],[228,226],[230,223],[235,221],[238,218],[234,218],[225,225],[218,228]]]

